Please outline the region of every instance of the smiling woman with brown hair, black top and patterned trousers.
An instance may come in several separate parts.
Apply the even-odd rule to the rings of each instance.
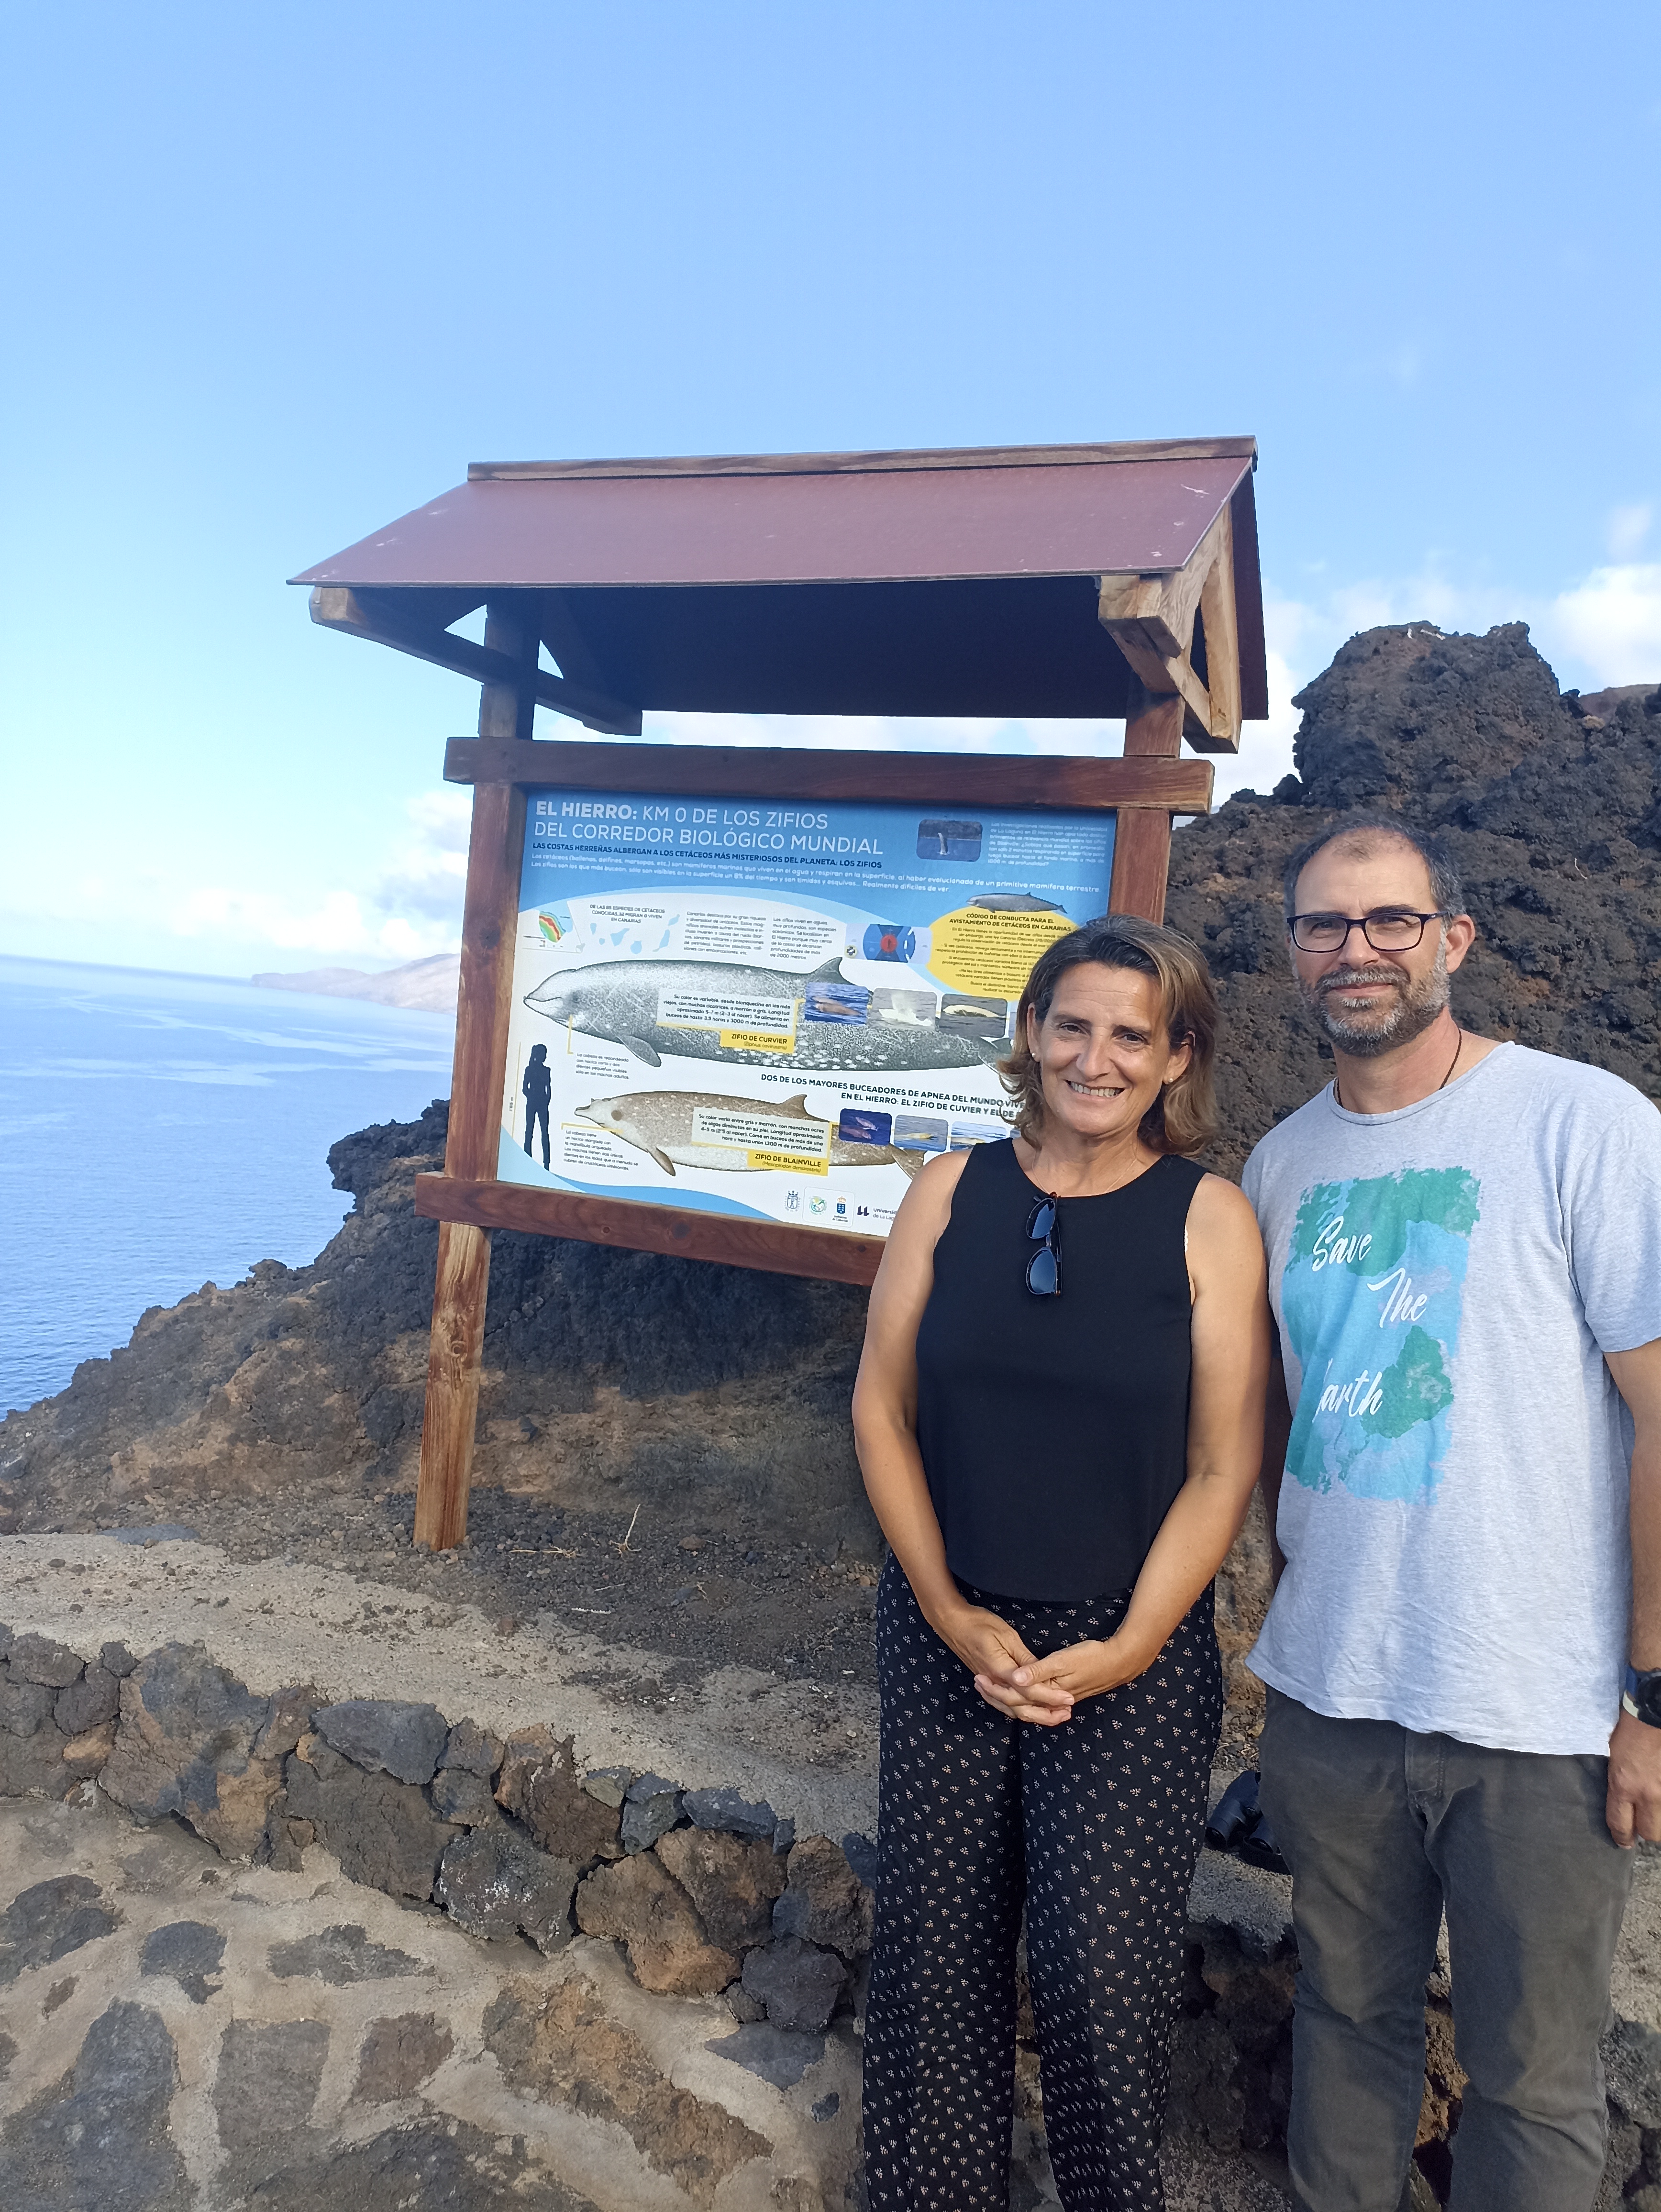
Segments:
[[[1216,998],[1170,929],[1059,938],[1015,1135],[929,1161],[871,1292],[854,1433],[894,1557],[871,2212],[1002,2212],[1015,1942],[1066,2212],[1159,2212],[1188,1882],[1223,1712],[1212,1577],[1263,1444],[1252,1210],[1194,1166]]]

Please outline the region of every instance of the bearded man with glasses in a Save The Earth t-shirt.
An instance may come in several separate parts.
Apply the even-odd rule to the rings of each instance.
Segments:
[[[1584,2212],[1634,1838],[1661,1840],[1661,1115],[1462,1029],[1475,925],[1393,816],[1294,854],[1334,1082],[1252,1152],[1285,1391],[1263,1807],[1303,2212],[1407,2205],[1446,1909],[1458,2212]]]

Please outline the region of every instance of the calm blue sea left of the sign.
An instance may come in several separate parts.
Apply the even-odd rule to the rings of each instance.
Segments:
[[[0,1411],[148,1305],[316,1259],[336,1137],[449,1093],[456,1024],[203,975],[0,958]]]

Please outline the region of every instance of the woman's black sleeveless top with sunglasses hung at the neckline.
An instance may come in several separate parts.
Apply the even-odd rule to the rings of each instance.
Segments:
[[[1128,1588],[1188,1473],[1183,1230],[1205,1170],[1166,1155],[1062,1199],[1062,1296],[1035,1298],[1015,1146],[978,1144],[918,1325],[918,1447],[962,1582],[1079,1604]]]

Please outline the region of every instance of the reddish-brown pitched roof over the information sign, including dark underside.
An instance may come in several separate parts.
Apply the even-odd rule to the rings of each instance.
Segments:
[[[447,628],[535,593],[562,672],[639,708],[1124,712],[1104,573],[1232,507],[1245,714],[1267,714],[1254,440],[484,462],[296,584]]]

